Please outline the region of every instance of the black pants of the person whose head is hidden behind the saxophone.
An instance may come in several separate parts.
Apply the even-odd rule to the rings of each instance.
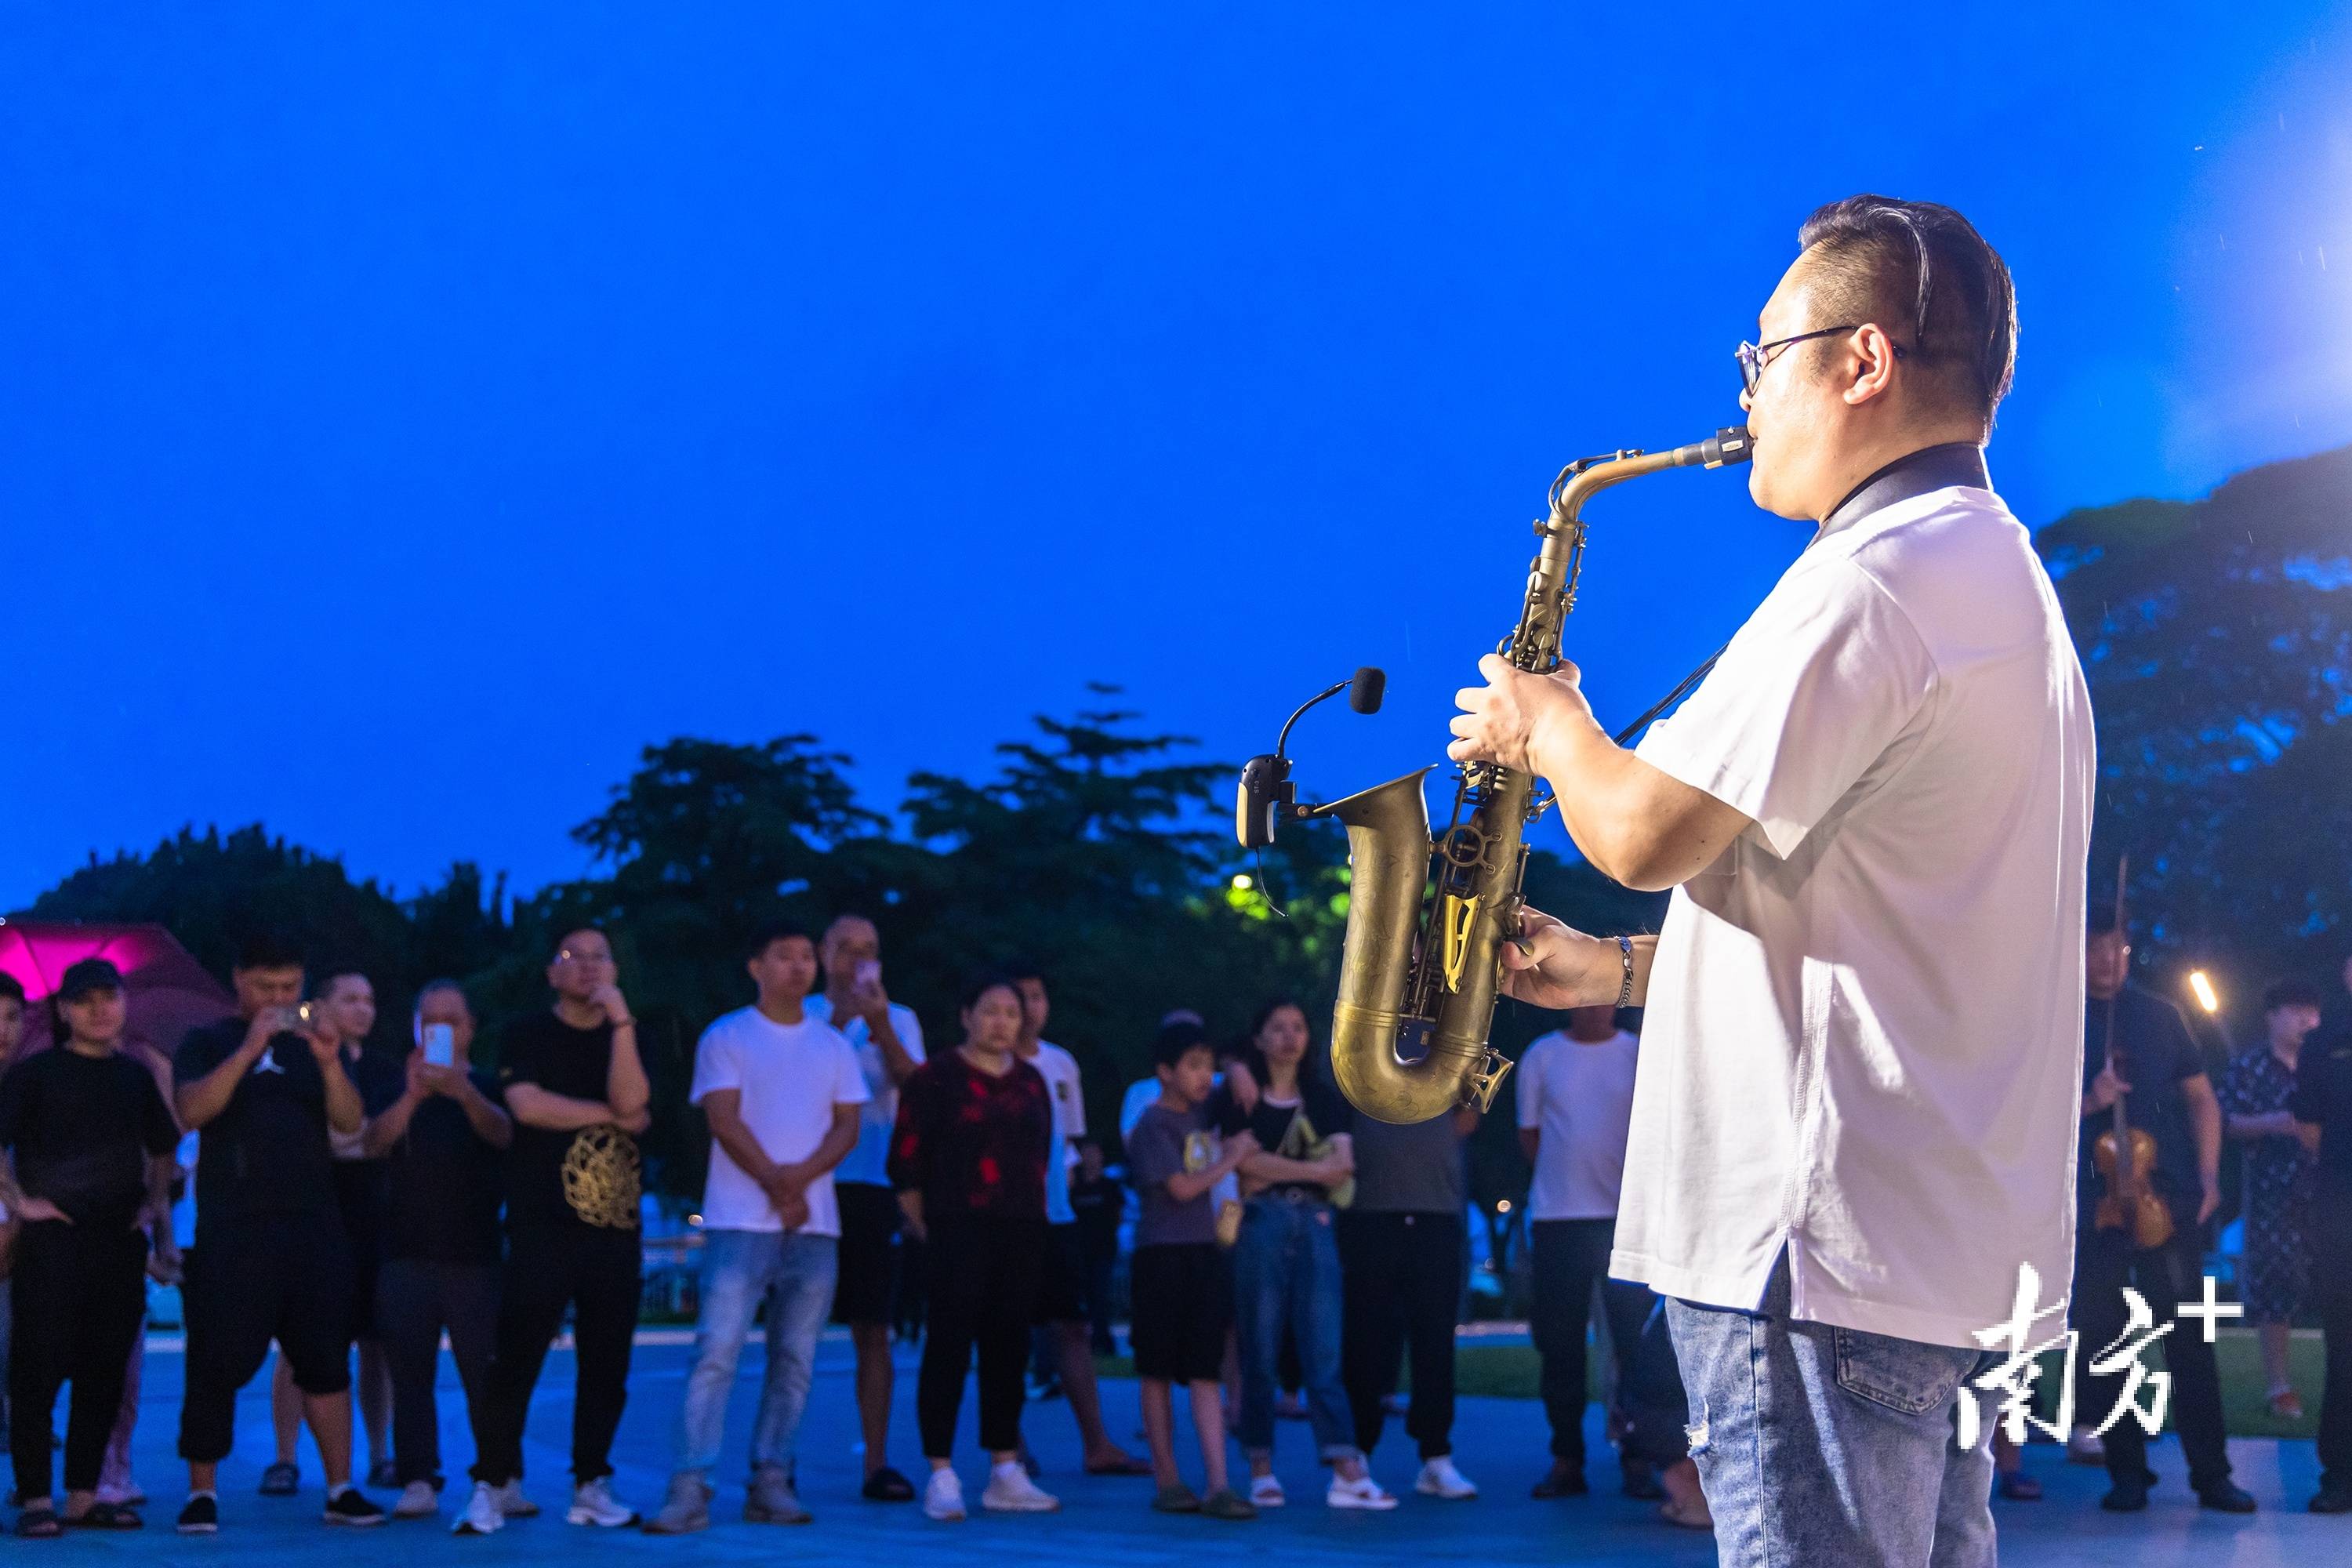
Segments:
[[[1341,1382],[1355,1446],[1381,1441],[1381,1401],[1414,1356],[1414,1406],[1404,1434],[1423,1460],[1454,1453],[1454,1319],[1463,1293],[1468,1232],[1458,1213],[1338,1215]]]

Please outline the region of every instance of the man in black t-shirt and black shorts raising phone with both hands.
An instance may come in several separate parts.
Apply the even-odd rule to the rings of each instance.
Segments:
[[[221,1528],[216,1481],[235,1441],[238,1389],[278,1340],[327,1469],[327,1523],[383,1523],[350,1483],[350,1244],[334,1197],[329,1128],[358,1133],[360,1091],[341,1041],[306,1032],[303,959],[278,938],[245,943],[238,1016],[191,1030],[172,1060],[179,1119],[202,1135],[188,1251],[188,1373],[179,1528]]]

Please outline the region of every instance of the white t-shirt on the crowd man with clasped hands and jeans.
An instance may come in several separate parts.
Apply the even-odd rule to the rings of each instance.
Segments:
[[[727,1013],[694,1046],[694,1105],[720,1088],[741,1091],[743,1126],[776,1164],[807,1159],[833,1131],[835,1105],[866,1105],[870,1093],[856,1051],[830,1023],[776,1023],[755,1006]],[[802,1237],[842,1234],[833,1171],[807,1187]],[[710,1180],[703,1185],[703,1229],[783,1229],[767,1192],[743,1173],[717,1138],[710,1140]]]

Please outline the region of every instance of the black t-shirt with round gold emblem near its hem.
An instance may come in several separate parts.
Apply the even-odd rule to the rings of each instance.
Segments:
[[[536,1084],[572,1100],[602,1100],[612,1067],[612,1025],[574,1030],[550,1013],[508,1027],[499,1058],[501,1093]],[[583,1128],[522,1126],[506,1157],[506,1222],[583,1222],[637,1229],[637,1140],[609,1121]]]

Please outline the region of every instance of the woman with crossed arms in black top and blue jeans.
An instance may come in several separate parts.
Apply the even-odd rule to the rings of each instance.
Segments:
[[[1308,1420],[1331,1467],[1324,1502],[1336,1509],[1392,1509],[1397,1500],[1364,1469],[1348,1392],[1338,1378],[1338,1241],[1334,1206],[1348,1201],[1355,1154],[1350,1112],[1338,1088],[1305,1065],[1308,1016],[1289,999],[1258,1009],[1249,1032],[1256,1095],[1218,1095],[1218,1131],[1249,1131],[1258,1152],[1242,1161],[1242,1237],[1235,1246],[1235,1305],[1242,1340],[1242,1413],[1235,1432],[1249,1458],[1249,1500],[1282,1507],[1275,1479],[1275,1394],[1282,1349],[1298,1349]],[[1240,1077],[1240,1074],[1235,1074]]]

